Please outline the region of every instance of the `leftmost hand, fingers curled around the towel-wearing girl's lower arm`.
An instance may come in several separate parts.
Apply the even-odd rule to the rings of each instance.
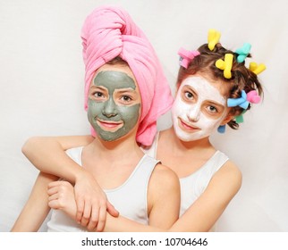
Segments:
[[[72,219],[76,219],[77,206],[74,188],[68,181],[54,181],[48,184],[48,205],[51,208],[66,212]]]

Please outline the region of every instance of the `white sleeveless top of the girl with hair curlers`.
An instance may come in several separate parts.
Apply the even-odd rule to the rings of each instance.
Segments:
[[[157,133],[152,146],[143,149],[145,154],[156,158],[158,138],[159,132]],[[216,151],[208,162],[206,162],[198,171],[195,171],[191,175],[180,179],[180,216],[199,198],[206,187],[208,187],[208,183],[212,179],[213,175],[224,165],[225,162],[228,161],[228,159],[228,156],[220,151]]]

